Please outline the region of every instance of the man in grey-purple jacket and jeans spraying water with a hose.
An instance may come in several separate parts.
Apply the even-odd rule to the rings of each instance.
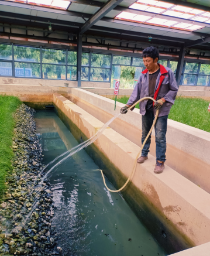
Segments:
[[[143,97],[152,97],[156,100],[144,100],[139,103],[140,114],[142,114],[142,144],[152,127],[156,110],[159,110],[159,117],[155,125],[156,138],[156,167],[155,173],[161,173],[166,161],[166,130],[168,114],[171,106],[174,104],[177,95],[178,86],[175,81],[174,73],[168,67],[158,63],[159,50],[150,46],[143,50],[143,63],[146,69],[137,81],[136,87],[129,98],[125,107],[121,108],[121,113],[128,112],[128,108]],[[151,135],[147,139],[142,149],[142,155],[137,159],[138,163],[143,163],[148,159],[148,153],[151,143]]]

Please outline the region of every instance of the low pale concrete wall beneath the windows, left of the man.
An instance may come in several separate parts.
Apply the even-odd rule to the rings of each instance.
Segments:
[[[68,81],[68,80],[50,80],[50,79],[35,79],[35,78],[13,78],[13,77],[0,77],[0,84],[17,84],[26,85],[26,86],[64,86],[64,87],[77,87],[77,81]],[[110,83],[103,82],[88,82],[81,81],[81,87],[102,87],[109,88]]]

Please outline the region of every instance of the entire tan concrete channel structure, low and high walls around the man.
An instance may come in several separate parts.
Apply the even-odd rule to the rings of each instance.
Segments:
[[[117,103],[113,111],[113,101],[101,96],[102,88],[97,89],[101,90],[101,95],[97,95],[91,89],[17,86],[16,90],[18,87],[18,93],[6,87],[1,93],[19,95],[35,108],[54,104],[58,117],[78,141],[94,135],[122,107]],[[153,173],[153,136],[149,160],[137,165],[122,196],[166,251],[177,252],[174,256],[209,255],[210,136],[208,132],[168,121],[166,169],[161,175]],[[140,127],[139,112],[129,112],[117,118],[87,149],[116,189],[128,178],[139,152]]]

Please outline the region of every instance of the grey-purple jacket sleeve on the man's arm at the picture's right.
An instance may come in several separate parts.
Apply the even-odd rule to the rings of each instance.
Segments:
[[[164,96],[164,99],[168,103],[174,104],[175,97],[178,92],[178,86],[177,86],[177,81],[175,80],[175,77],[174,77],[174,73],[171,69],[168,70],[168,78],[169,78],[169,83],[168,83],[169,91]]]

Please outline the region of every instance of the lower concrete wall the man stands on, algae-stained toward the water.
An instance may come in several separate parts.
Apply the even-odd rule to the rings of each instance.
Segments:
[[[61,95],[54,95],[58,116],[80,141],[90,138],[104,124]],[[87,107],[88,108],[88,107]],[[87,109],[86,108],[86,109]],[[119,189],[132,171],[139,146],[111,128],[86,151]],[[137,164],[132,182],[122,196],[168,253],[210,241],[210,194],[169,166],[153,172],[155,158]],[[166,238],[164,235],[166,234]]]

